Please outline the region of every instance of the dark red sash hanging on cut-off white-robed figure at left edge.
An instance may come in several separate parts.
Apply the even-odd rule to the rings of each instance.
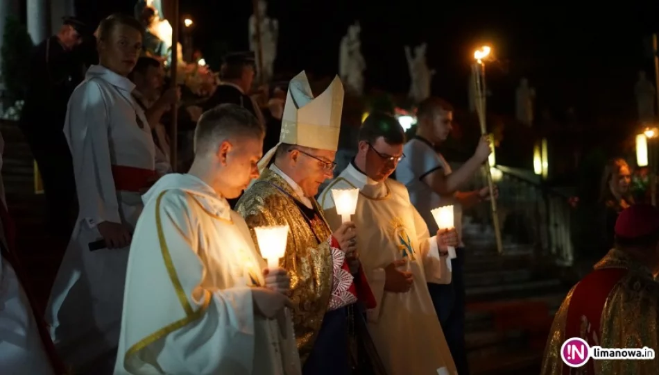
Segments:
[[[5,258],[10,265],[12,265],[16,277],[18,278],[19,283],[21,283],[23,292],[28,299],[28,303],[30,303],[32,315],[34,316],[35,323],[37,324],[37,331],[39,332],[41,341],[44,344],[46,355],[48,356],[50,363],[53,366],[55,374],[67,374],[67,367],[64,365],[64,363],[62,363],[57,351],[55,350],[55,345],[53,344],[51,335],[48,332],[46,322],[44,322],[42,315],[38,313],[42,310],[38,308],[35,299],[32,297],[30,292],[31,289],[29,288],[30,285],[27,283],[28,278],[26,277],[24,269],[21,267],[17,257],[14,255],[14,249],[16,249],[16,227],[9,215],[9,212],[7,211],[7,208],[2,202],[0,202],[0,220],[2,220],[2,228],[5,233],[5,240],[7,246],[9,247],[7,249],[3,244],[0,243],[0,252],[2,253],[3,258]]]

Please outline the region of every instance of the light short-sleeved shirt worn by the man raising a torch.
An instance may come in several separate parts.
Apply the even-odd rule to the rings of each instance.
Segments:
[[[441,153],[434,150],[430,142],[420,137],[409,140],[403,147],[403,152],[406,157],[398,163],[396,179],[404,183],[409,190],[410,201],[425,220],[430,233],[436,233],[438,229],[430,210],[453,205],[455,228],[461,241],[460,247],[464,247],[462,206],[459,201],[453,197],[441,197],[427,183],[423,182],[425,176],[437,169],[443,169],[445,175],[451,174],[451,166]]]

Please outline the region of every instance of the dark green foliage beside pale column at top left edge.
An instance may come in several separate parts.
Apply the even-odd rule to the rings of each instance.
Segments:
[[[2,66],[0,72],[6,94],[12,100],[24,99],[30,75],[31,54],[34,48],[26,26],[14,17],[7,17],[3,31]]]

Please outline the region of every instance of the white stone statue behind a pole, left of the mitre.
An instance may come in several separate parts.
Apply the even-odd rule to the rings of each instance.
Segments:
[[[258,15],[258,17],[257,17]],[[256,32],[257,20],[260,22],[259,31],[261,33],[261,51],[259,51],[259,40]],[[279,21],[268,17],[268,3],[265,0],[259,0],[258,9],[255,14],[250,16],[249,20],[250,33],[250,51],[254,52],[257,61],[257,69],[262,65],[263,72],[259,72],[264,82],[270,82],[273,78],[275,58],[277,58],[277,42],[279,41]],[[259,56],[263,53],[263,57]]]

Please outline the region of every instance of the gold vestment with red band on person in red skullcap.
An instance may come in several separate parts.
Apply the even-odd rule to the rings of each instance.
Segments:
[[[574,337],[591,348],[658,350],[658,306],[659,283],[650,270],[624,251],[609,251],[593,272],[574,285],[556,313],[542,375],[659,374],[659,359],[591,359],[582,367],[569,367],[560,356],[563,342]]]

